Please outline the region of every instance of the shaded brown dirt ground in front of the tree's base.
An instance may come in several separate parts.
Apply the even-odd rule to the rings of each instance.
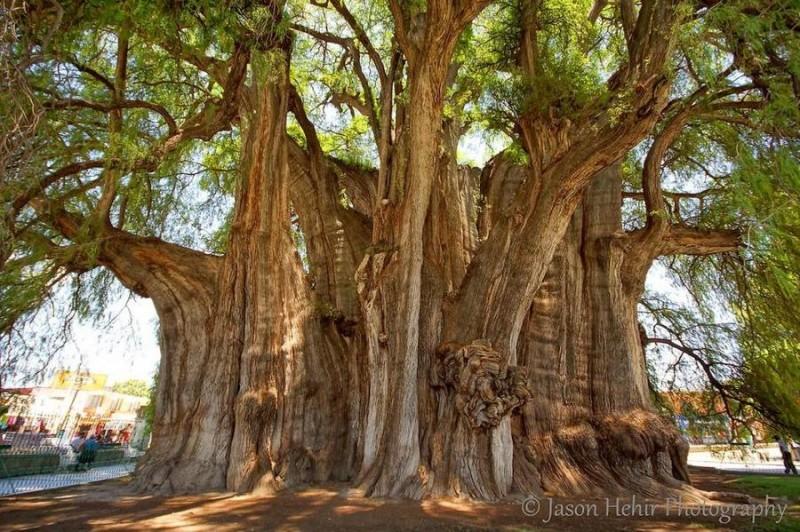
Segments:
[[[732,491],[734,475],[693,473],[700,489]],[[135,494],[126,481],[115,480],[2,498],[0,530],[788,530],[800,516],[800,507],[795,505],[780,524],[775,524],[774,515],[757,517],[755,525],[752,517],[720,523],[719,510],[711,506],[704,510],[707,515],[692,517],[676,515],[675,507],[667,515],[664,501],[636,500],[638,506],[628,507],[615,501],[547,497],[526,504],[376,500],[351,495],[337,485],[270,496],[154,497]],[[650,502],[655,506],[647,506]],[[529,514],[538,512],[526,515],[523,507]],[[556,515],[569,513],[570,508],[571,513],[589,515]]]

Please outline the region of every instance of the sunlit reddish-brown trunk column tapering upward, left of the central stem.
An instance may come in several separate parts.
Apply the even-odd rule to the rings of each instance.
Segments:
[[[290,237],[286,50],[255,58],[252,103],[242,113],[242,180],[220,274],[214,350],[231,361],[227,487],[237,491],[328,479],[345,442],[346,396],[338,392],[347,368],[316,320]]]

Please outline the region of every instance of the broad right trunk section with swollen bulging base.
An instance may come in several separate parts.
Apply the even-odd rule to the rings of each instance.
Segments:
[[[624,279],[618,168],[600,174],[559,245],[520,336],[533,399],[515,426],[515,481],[563,495],[656,495],[688,481],[685,444],[651,408]]]

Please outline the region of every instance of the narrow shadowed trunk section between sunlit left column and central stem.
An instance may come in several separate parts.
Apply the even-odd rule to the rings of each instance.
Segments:
[[[341,164],[334,168],[326,161],[316,131],[302,106],[293,107],[292,112],[305,131],[306,150],[294,143],[289,146],[292,178],[289,195],[305,243],[313,286],[314,318],[346,376],[320,385],[344,386],[338,393],[345,398],[346,426],[343,430],[346,441],[337,459],[335,477],[349,478],[363,443],[361,427],[368,376],[363,360],[365,340],[363,328],[359,326],[355,272],[369,245],[371,227],[365,215],[338,201],[344,187],[337,174],[349,172],[353,179],[366,183],[370,176],[356,175],[360,174],[357,169],[347,169]],[[330,420],[331,423],[344,421],[342,418]]]

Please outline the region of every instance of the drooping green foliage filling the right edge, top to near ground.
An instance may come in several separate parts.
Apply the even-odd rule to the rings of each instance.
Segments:
[[[732,114],[698,101],[703,119],[682,131],[663,181],[671,190],[707,192],[682,200],[680,219],[673,213],[673,221],[739,229],[745,247],[737,256],[670,259],[675,278],[693,301],[677,321],[674,308],[651,309],[674,325],[677,334],[671,337],[681,335],[712,363],[727,393],[741,400],[737,410],[743,421],[757,411],[762,420],[795,433],[800,430],[796,7],[791,1],[769,9],[726,2],[677,35],[675,98],[700,87],[704,98],[737,87],[756,91],[725,97],[724,105],[751,104]],[[631,157],[626,165],[634,190],[641,157]],[[629,215],[628,225],[636,226],[644,213],[631,209]]]

